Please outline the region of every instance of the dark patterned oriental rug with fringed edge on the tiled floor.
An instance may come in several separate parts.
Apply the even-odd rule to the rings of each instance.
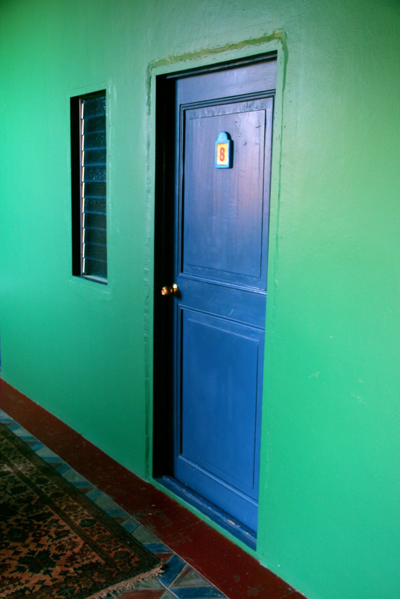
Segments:
[[[0,424],[0,597],[101,599],[160,562]]]

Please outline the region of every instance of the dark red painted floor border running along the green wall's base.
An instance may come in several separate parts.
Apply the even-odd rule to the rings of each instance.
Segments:
[[[229,599],[304,599],[240,547],[2,379],[0,408],[133,515]]]

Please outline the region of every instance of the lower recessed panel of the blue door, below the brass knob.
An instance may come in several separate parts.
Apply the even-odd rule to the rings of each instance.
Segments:
[[[257,499],[255,422],[261,408],[257,390],[263,331],[184,308],[181,326],[185,351],[181,356],[179,457]],[[204,435],[215,422],[218,434]]]

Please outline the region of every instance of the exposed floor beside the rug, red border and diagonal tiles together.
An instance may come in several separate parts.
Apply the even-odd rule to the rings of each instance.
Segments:
[[[104,497],[112,501],[104,507],[121,510],[111,514],[121,518],[125,527],[133,525],[133,534],[145,535],[140,540],[153,547],[166,563],[164,577],[153,588],[145,585],[121,599],[305,599],[192,512],[2,379],[0,408],[31,433],[28,443],[38,455],[50,450],[46,458],[60,460],[53,464],[67,468],[64,476],[72,477],[78,488],[89,497],[91,492],[98,492],[100,495],[92,497],[96,502],[106,501]],[[26,431],[23,434],[29,436]],[[69,466],[63,465],[65,462]]]

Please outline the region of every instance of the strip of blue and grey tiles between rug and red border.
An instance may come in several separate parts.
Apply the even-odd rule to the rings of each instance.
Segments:
[[[51,465],[82,494],[106,512],[128,533],[132,534],[149,551],[163,562],[163,573],[154,581],[140,583],[135,591],[124,592],[121,599],[210,599],[226,598],[221,591],[194,570],[166,544],[142,526],[136,519],[118,506],[108,495],[91,485],[81,474],[70,467],[56,453],[52,452],[29,431],[19,425],[11,416],[0,410],[0,422],[19,437],[29,448]]]

